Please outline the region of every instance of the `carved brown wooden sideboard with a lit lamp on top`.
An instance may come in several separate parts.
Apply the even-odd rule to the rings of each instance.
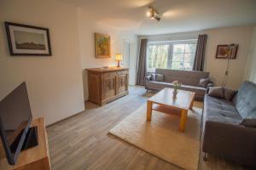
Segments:
[[[128,94],[129,69],[122,67],[93,68],[88,71],[89,101],[104,105]]]

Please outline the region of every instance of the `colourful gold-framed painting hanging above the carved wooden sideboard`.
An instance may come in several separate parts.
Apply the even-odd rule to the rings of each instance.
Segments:
[[[110,58],[110,36],[95,33],[96,58]]]

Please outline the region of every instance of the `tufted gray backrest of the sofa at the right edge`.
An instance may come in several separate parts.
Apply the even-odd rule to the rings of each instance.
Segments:
[[[256,84],[243,82],[233,103],[243,119],[256,118]]]

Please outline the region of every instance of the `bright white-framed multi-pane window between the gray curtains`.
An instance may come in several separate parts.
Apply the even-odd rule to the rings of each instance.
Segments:
[[[197,40],[148,42],[147,69],[191,71]]]

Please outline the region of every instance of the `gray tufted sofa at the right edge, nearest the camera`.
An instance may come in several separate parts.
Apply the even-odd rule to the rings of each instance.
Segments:
[[[233,99],[206,94],[202,150],[256,168],[256,84],[244,82]]]

